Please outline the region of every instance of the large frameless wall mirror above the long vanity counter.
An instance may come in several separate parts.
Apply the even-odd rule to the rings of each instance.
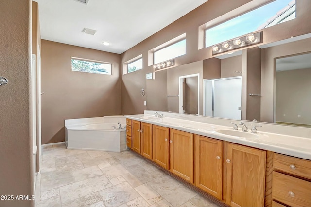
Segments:
[[[156,71],[146,80],[147,109],[179,113],[179,77],[191,74],[200,77],[198,115],[206,80],[241,77],[242,120],[311,127],[311,34]]]

